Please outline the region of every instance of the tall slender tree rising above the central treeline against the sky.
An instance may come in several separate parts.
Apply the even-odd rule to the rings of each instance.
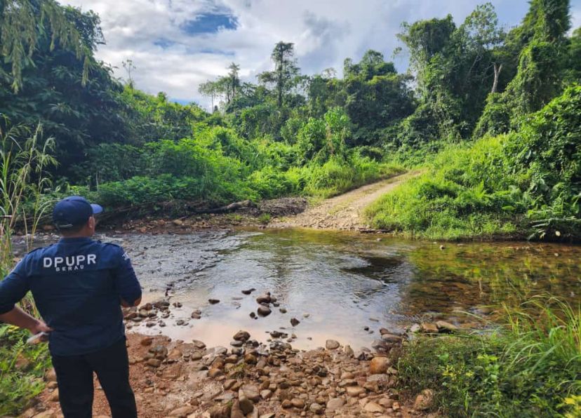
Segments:
[[[297,66],[295,44],[279,42],[274,46],[270,58],[274,62],[274,71],[258,74],[258,81],[263,84],[273,84],[276,89],[276,103],[279,108],[283,106],[285,95],[295,86],[300,79],[300,70]]]

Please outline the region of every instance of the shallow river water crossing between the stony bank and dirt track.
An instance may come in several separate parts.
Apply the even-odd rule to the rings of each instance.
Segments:
[[[264,342],[268,331],[283,328],[296,334],[299,349],[326,339],[359,349],[381,327],[403,330],[437,319],[474,324],[475,316],[490,318],[487,306],[539,292],[581,300],[581,247],[573,245],[444,243],[441,249],[441,243],[300,229],[106,239],[128,250],[145,301],[168,290],[170,301],[182,304],[171,309],[165,327],[140,323],[133,330],[209,346],[227,346],[238,330]],[[243,295],[248,288],[256,291]],[[287,313],[275,308],[251,318],[255,297],[267,291]],[[196,309],[201,318],[190,318]],[[300,321],[295,327],[293,317]]]

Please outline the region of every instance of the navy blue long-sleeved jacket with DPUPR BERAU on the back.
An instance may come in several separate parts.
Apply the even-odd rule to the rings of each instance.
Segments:
[[[0,314],[32,292],[56,356],[105,349],[125,336],[121,299],[133,304],[141,288],[119,245],[62,238],[29,252],[0,282]]]

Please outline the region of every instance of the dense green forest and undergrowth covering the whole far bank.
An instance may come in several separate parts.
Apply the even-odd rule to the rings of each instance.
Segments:
[[[375,204],[377,227],[580,235],[578,88],[563,91],[580,81],[581,49],[579,29],[568,35],[568,0],[531,1],[509,32],[491,4],[460,23],[404,23],[406,74],[375,50],[347,58],[342,77],[302,74],[295,46],[281,41],[257,83],[232,62],[200,86],[211,113],[140,92],[131,60],[126,85],[114,79],[93,56],[104,42],[95,13],[53,1],[1,6],[0,114],[40,121],[55,138],[48,197],[75,191],[114,208],[330,196],[396,173],[390,161],[432,161]],[[19,20],[26,35],[14,31]]]

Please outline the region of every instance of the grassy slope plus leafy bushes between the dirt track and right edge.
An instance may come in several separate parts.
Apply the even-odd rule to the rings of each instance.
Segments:
[[[376,227],[429,238],[581,238],[581,86],[519,132],[450,145],[368,208]]]

